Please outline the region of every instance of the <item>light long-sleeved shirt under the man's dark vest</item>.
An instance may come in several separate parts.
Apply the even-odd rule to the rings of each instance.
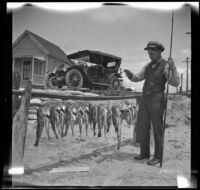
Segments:
[[[159,61],[157,61],[157,63],[159,63],[161,60],[162,59],[160,59]],[[146,70],[147,66],[150,63],[147,63],[139,72],[132,73],[133,76],[132,76],[132,78],[130,78],[130,80],[133,81],[133,82],[138,82],[138,81],[144,80],[145,70]],[[157,64],[157,63],[155,63],[155,64]],[[179,73],[177,72],[177,69],[176,69],[175,66],[172,67],[172,68],[170,68],[170,73],[169,73],[169,64],[167,62],[167,64],[165,65],[165,67],[163,69],[163,72],[165,74],[166,79],[167,80],[169,79],[169,85],[174,86],[174,87],[179,86],[179,84],[180,84],[180,77],[179,77]],[[168,76],[169,76],[169,78],[168,78]]]

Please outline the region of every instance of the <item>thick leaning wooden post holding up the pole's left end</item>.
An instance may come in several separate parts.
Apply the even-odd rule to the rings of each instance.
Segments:
[[[23,167],[26,131],[28,124],[28,111],[31,98],[32,82],[27,82],[21,105],[13,118],[12,125],[12,168]]]

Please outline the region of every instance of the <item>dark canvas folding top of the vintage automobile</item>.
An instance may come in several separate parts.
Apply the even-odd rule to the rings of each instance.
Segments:
[[[103,65],[107,67],[107,63],[116,62],[116,67],[119,67],[121,64],[121,58],[115,55],[107,54],[101,51],[92,51],[92,50],[82,50],[67,56],[69,59],[78,59],[83,58],[84,61],[89,61],[96,63],[98,65]]]

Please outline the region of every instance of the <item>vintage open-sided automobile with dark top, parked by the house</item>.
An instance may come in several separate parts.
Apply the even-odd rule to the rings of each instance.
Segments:
[[[89,89],[119,89],[123,86],[121,76],[121,58],[101,51],[83,50],[67,56],[73,65],[61,65],[49,73],[46,87],[67,86],[76,90]]]

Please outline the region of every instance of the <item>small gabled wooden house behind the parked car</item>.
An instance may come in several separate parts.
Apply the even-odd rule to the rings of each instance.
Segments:
[[[21,87],[29,79],[33,86],[43,86],[48,71],[61,64],[73,64],[57,45],[28,30],[13,43],[12,56],[13,70],[21,75]]]

